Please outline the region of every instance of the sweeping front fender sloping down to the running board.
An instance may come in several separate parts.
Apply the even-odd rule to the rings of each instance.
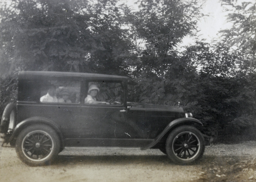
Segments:
[[[145,146],[141,149],[146,150],[146,149],[154,147],[154,145],[156,145],[163,138],[163,136],[167,132],[169,132],[170,130],[175,128],[177,125],[182,125],[182,124],[185,124],[185,123],[189,123],[189,124],[196,123],[196,124],[199,124],[199,125],[203,125],[203,123],[201,121],[199,121],[198,119],[192,118],[192,117],[183,117],[183,118],[175,119],[172,122],[170,122],[169,125],[166,126],[166,128],[162,131],[162,133],[160,133],[156,137],[156,139],[154,139],[153,142],[151,142],[148,146]]]

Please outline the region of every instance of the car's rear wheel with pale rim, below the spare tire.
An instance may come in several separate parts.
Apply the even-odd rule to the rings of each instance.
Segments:
[[[30,125],[18,135],[15,149],[27,165],[49,165],[60,151],[60,139],[48,125]]]

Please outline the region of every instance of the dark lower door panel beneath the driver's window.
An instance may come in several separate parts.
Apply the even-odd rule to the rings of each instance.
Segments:
[[[118,139],[122,138],[120,129],[126,121],[124,105],[83,105],[77,116],[81,123],[81,138]]]

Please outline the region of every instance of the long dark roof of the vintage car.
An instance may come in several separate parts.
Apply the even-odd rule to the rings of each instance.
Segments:
[[[46,77],[74,77],[74,78],[88,78],[88,79],[108,79],[108,80],[128,80],[132,85],[136,84],[129,77],[110,75],[110,74],[94,74],[94,73],[78,73],[78,72],[61,72],[61,71],[19,71],[19,79],[39,79]]]

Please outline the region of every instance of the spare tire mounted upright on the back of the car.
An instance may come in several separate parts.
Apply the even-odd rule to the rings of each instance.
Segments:
[[[7,134],[11,132],[16,125],[16,107],[14,103],[9,103],[3,111],[0,133]]]

